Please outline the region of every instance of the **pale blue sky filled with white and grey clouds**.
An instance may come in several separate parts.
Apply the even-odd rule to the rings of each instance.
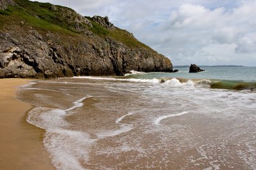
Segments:
[[[117,27],[169,57],[174,66],[256,66],[255,0],[37,0]]]

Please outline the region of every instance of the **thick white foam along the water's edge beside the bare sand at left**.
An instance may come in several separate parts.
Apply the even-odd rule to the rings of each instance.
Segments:
[[[74,106],[66,110],[50,108],[34,108],[29,111],[27,121],[45,129],[44,146],[50,154],[52,164],[56,169],[84,169],[81,159],[88,161],[88,150],[97,139],[83,131],[66,129],[68,122],[65,120],[67,112],[83,106],[86,96],[74,102]],[[80,158],[80,159],[77,159]]]

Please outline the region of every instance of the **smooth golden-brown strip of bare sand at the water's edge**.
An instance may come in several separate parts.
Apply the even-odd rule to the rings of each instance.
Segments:
[[[29,80],[0,79],[0,169],[54,169],[42,139],[44,131],[26,122],[33,107],[16,99]]]

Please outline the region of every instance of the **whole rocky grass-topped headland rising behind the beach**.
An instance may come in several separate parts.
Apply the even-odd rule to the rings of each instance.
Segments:
[[[0,78],[172,72],[168,58],[115,27],[108,17],[82,17],[70,8],[49,3],[0,0],[3,2]]]

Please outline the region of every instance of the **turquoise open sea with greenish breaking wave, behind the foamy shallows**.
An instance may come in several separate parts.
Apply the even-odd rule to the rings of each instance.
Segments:
[[[126,74],[129,78],[138,79],[160,79],[168,80],[176,78],[182,83],[184,81],[194,81],[200,85],[204,82],[214,89],[232,90],[255,90],[256,87],[256,67],[201,67],[205,71],[200,73],[189,73],[189,67],[174,67],[179,69],[177,73],[136,73]],[[204,81],[207,80],[207,81]]]

